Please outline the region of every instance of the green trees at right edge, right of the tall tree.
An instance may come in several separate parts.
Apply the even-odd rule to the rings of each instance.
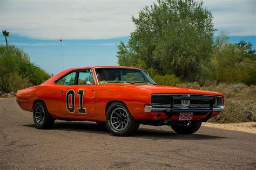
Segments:
[[[227,42],[227,36],[227,33],[221,32],[213,45],[213,80],[217,83],[256,84],[256,58],[252,44],[243,40],[231,44]]]

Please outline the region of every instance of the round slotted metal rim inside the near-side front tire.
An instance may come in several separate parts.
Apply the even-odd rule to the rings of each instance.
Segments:
[[[124,108],[116,108],[111,112],[110,123],[115,130],[124,130],[128,125],[128,122],[129,113]]]

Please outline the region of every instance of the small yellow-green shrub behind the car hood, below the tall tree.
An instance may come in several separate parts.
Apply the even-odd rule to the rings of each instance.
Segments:
[[[177,86],[181,83],[179,77],[176,77],[174,74],[156,75],[153,80],[157,84],[165,86]]]

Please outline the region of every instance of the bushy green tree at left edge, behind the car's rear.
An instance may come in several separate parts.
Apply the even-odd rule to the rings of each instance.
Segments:
[[[0,45],[0,90],[16,92],[41,84],[49,78],[50,75],[31,63],[28,54],[21,49]]]

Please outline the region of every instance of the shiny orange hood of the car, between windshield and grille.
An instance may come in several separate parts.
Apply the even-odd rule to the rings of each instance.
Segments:
[[[114,84],[109,84],[114,85]],[[138,90],[148,91],[151,94],[202,94],[202,95],[217,95],[223,96],[221,93],[207,90],[188,89],[172,86],[160,86],[150,84],[115,84],[114,86],[123,86],[127,88],[135,88]]]

